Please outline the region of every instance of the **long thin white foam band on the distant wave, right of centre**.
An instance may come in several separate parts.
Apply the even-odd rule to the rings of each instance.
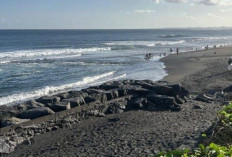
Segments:
[[[115,41],[110,43],[104,43],[105,45],[117,45],[117,46],[148,46],[153,47],[156,45],[175,45],[185,43],[185,40],[179,41]]]

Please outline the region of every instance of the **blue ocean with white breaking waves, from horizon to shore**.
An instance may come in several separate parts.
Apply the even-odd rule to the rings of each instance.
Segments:
[[[232,29],[0,30],[0,105],[119,79],[157,81],[168,75],[160,53],[231,44]]]

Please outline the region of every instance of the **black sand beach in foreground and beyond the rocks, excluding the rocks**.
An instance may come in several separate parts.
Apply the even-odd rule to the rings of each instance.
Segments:
[[[162,59],[169,73],[162,81],[180,83],[191,94],[180,111],[138,109],[90,117],[35,136],[7,156],[148,156],[161,150],[193,149],[201,134],[210,131],[222,105],[221,99],[194,98],[231,85],[232,72],[227,70],[231,55],[232,48],[224,47]]]

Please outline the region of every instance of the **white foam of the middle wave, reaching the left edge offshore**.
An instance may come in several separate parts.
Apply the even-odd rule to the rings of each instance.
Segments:
[[[61,55],[61,54],[77,54],[77,53],[87,53],[87,52],[97,52],[97,51],[109,51],[110,47],[106,48],[79,48],[79,49],[40,49],[40,50],[20,50],[13,52],[3,52],[0,53],[0,59],[3,58],[23,58],[23,57],[42,57],[51,55]]]

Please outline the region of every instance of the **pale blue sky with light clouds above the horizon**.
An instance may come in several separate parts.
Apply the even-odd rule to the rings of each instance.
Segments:
[[[0,0],[0,29],[232,27],[232,0]]]

